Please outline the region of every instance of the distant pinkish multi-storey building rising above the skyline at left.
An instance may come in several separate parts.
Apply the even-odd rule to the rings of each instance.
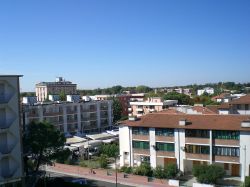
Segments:
[[[60,93],[66,95],[76,94],[76,84],[65,81],[62,77],[56,78],[55,82],[40,82],[36,84],[36,96],[40,102],[48,99],[48,95],[59,95]]]

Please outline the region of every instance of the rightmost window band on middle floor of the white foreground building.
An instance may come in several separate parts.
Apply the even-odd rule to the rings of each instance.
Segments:
[[[240,149],[238,147],[213,147],[213,154],[217,156],[240,156]]]

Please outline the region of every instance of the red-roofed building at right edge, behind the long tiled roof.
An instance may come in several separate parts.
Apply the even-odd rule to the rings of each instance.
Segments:
[[[250,115],[250,95],[234,99],[229,103],[222,103],[218,110],[219,114]]]

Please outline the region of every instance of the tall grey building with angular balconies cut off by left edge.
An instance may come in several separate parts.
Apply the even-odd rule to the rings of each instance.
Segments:
[[[0,76],[0,186],[15,186],[23,177],[19,77]]]

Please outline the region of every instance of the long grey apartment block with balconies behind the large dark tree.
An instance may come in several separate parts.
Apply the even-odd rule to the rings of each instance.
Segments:
[[[112,101],[61,102],[24,105],[25,124],[48,121],[66,136],[108,130],[113,122]]]

